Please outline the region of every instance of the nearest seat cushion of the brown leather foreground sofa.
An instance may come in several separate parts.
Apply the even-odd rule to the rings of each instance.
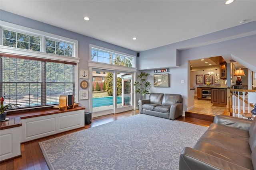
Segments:
[[[238,166],[242,166],[250,170],[253,169],[251,158],[223,149],[216,145],[198,141],[194,146],[194,149],[218,157],[222,160],[226,160],[232,164],[237,164]]]

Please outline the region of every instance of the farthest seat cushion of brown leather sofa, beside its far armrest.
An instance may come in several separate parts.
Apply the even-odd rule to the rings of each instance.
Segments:
[[[215,124],[215,123],[212,123],[207,131],[213,131],[215,133],[219,133],[232,138],[237,138],[245,142],[248,142],[248,139],[249,139],[248,131],[244,131],[238,128],[233,128],[225,125]]]

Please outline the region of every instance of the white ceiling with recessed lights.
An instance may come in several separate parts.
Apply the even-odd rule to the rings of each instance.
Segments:
[[[255,0],[0,0],[0,9],[134,51],[256,21]]]

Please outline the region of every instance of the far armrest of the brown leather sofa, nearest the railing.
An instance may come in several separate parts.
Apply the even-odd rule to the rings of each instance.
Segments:
[[[213,123],[249,131],[252,121],[228,115],[215,115]]]

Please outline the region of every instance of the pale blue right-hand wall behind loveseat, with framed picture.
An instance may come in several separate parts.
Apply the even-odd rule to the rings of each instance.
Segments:
[[[242,37],[244,35],[249,35]],[[208,45],[207,45],[208,44]],[[186,49],[188,48],[188,49]],[[176,53],[176,49],[180,49]],[[176,57],[177,56],[177,57]],[[150,74],[150,92],[181,94],[187,110],[190,90],[190,60],[222,56],[256,71],[256,21],[194,39],[140,52],[138,69]],[[146,63],[146,64],[144,64]],[[175,63],[178,63],[175,65]],[[170,68],[170,87],[154,87],[154,69]],[[228,75],[227,79],[230,79]],[[182,84],[181,80],[185,80]],[[229,83],[230,85],[230,83]]]

